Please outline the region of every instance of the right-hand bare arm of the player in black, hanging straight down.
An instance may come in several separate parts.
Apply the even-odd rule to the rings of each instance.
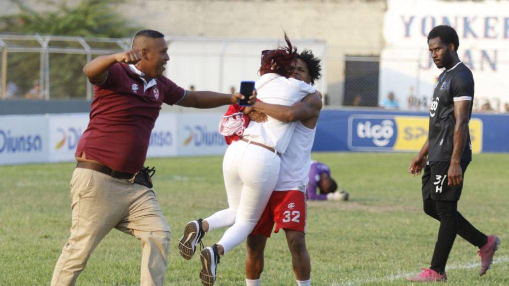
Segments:
[[[467,142],[468,120],[471,101],[456,101],[454,103],[454,117],[456,124],[453,135],[453,155],[447,172],[448,184],[458,186],[463,181],[463,171],[460,162]]]

